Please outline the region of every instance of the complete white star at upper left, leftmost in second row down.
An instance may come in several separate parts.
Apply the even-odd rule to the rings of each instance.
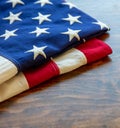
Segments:
[[[13,14],[12,12],[9,13],[10,15],[8,17],[3,18],[4,20],[10,20],[10,24],[12,24],[14,21],[22,21],[19,16],[22,14],[22,12]]]

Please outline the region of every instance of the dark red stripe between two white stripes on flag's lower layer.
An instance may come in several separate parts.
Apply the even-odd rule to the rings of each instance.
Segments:
[[[49,61],[40,68],[24,72],[24,75],[28,81],[29,87],[31,88],[59,75],[59,69],[53,61]]]

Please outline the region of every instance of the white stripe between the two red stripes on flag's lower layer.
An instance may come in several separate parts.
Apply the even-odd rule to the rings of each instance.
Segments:
[[[53,58],[53,61],[57,64],[60,74],[70,72],[82,65],[87,64],[86,56],[75,48],[72,48],[62,55]]]

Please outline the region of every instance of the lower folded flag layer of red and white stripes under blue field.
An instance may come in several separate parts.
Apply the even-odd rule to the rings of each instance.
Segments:
[[[0,102],[13,97],[29,88],[82,65],[97,61],[112,53],[110,46],[98,40],[91,39],[84,44],[72,48],[58,57],[52,58],[45,65],[26,72],[21,72],[12,79],[0,85]]]

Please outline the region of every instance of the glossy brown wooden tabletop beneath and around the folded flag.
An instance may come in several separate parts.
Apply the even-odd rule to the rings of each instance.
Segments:
[[[111,27],[113,54],[0,104],[0,128],[120,128],[120,2],[68,0]]]

